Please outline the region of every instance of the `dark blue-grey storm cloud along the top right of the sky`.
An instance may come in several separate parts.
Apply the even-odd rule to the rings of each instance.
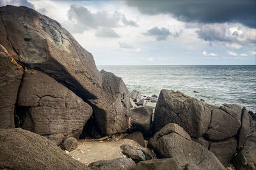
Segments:
[[[239,22],[256,27],[255,0],[196,0],[196,1],[126,1],[141,13],[156,15],[169,13],[184,22],[204,24]]]

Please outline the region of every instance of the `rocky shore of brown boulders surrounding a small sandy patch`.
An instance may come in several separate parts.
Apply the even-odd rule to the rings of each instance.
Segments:
[[[129,92],[61,25],[0,7],[0,169],[255,169],[255,114]]]

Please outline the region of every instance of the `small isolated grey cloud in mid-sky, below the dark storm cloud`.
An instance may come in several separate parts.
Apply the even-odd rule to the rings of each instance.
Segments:
[[[165,27],[162,27],[161,29],[159,29],[158,27],[154,27],[152,29],[149,29],[144,34],[148,36],[156,36],[157,41],[160,41],[167,39],[168,36],[171,35],[171,32],[169,31],[169,29],[166,29]]]

